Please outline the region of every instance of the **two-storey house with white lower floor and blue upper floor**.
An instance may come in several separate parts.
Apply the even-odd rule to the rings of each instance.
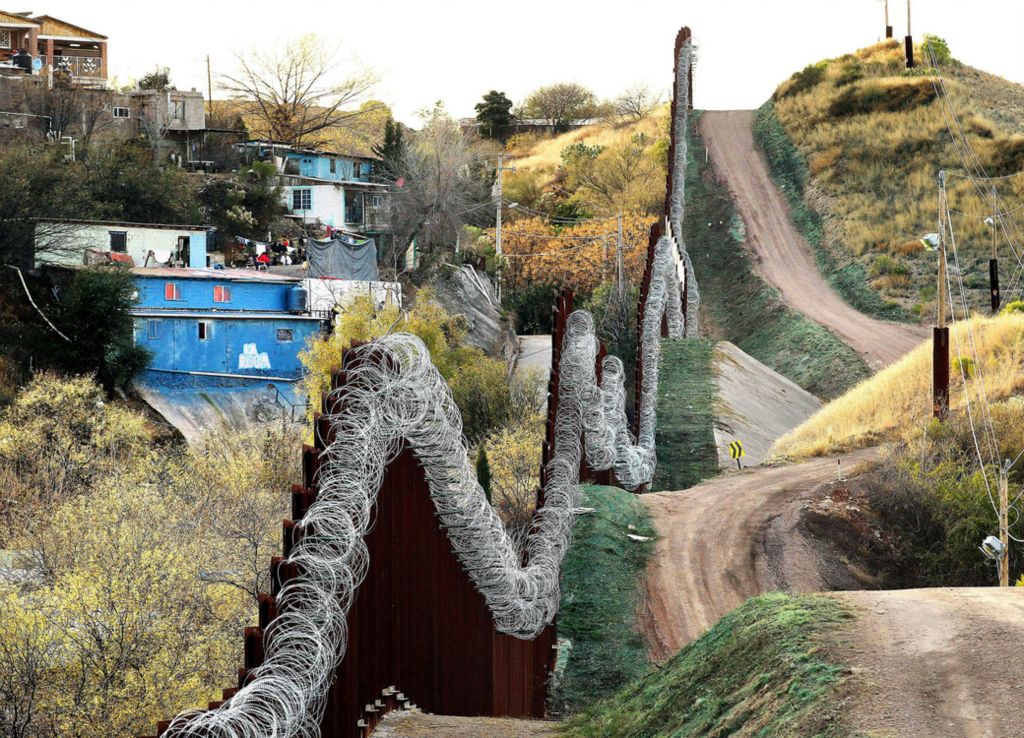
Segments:
[[[247,160],[272,161],[288,216],[303,225],[389,232],[387,186],[373,180],[377,160],[268,141],[239,144]]]

